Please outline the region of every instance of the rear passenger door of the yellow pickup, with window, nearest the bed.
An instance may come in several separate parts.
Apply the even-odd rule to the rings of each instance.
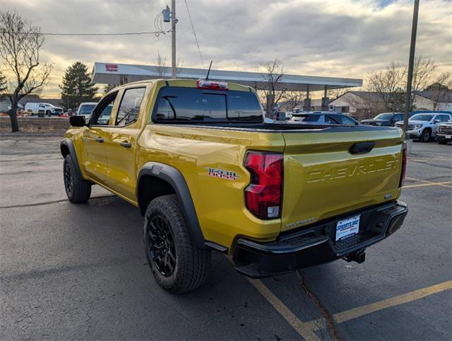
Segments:
[[[108,162],[105,183],[133,202],[136,201],[135,146],[145,116],[142,105],[145,91],[144,86],[124,90],[104,144]]]

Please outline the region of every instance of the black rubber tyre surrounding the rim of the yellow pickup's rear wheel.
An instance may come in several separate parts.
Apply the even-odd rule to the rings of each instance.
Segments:
[[[151,255],[153,243],[149,231],[154,229],[151,221],[155,221],[157,217],[165,219],[174,241],[175,266],[172,273],[166,275],[160,272]],[[210,267],[210,250],[193,245],[176,195],[164,195],[150,202],[145,212],[143,237],[150,270],[160,287],[172,294],[182,294],[199,287],[206,280]]]

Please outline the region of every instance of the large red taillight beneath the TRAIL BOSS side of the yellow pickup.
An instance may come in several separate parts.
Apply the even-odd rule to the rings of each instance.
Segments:
[[[283,154],[249,151],[245,167],[251,173],[245,188],[246,208],[260,219],[279,218],[283,202]]]

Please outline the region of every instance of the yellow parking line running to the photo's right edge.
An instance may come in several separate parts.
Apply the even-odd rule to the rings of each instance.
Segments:
[[[333,319],[336,323],[343,323],[347,320],[352,320],[354,318],[359,318],[364,315],[368,315],[369,313],[374,313],[375,311],[379,311],[385,308],[390,308],[391,306],[399,306],[400,304],[409,303],[412,301],[416,301],[418,299],[423,299],[424,297],[438,294],[441,291],[446,291],[452,289],[452,280],[442,282],[439,284],[432,285],[431,287],[427,287],[424,289],[419,289],[415,291],[408,292],[407,294],[402,294],[399,296],[391,297],[391,299],[385,299],[383,301],[375,302],[372,304],[367,304],[366,306],[360,306],[357,308],[352,308],[347,311],[342,311],[340,313],[335,313],[333,315]],[[309,327],[311,330],[318,329],[318,324],[321,323],[323,318],[319,318],[316,320],[311,320],[307,323],[304,323],[305,328]]]

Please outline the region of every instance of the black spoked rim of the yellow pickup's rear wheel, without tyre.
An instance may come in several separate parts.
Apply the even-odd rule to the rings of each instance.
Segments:
[[[153,216],[149,222],[148,236],[150,259],[160,274],[171,276],[176,267],[176,247],[172,229],[164,216]]]

